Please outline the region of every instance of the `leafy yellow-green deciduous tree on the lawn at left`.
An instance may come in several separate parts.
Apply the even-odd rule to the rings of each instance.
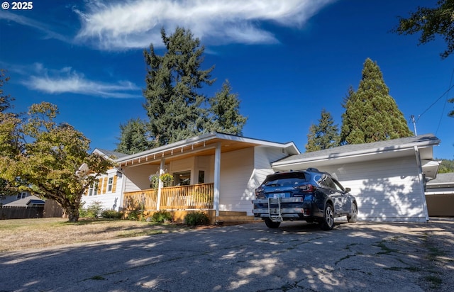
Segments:
[[[18,130],[21,151],[16,155],[0,153],[0,177],[6,181],[23,181],[22,189],[55,200],[70,222],[77,222],[82,194],[96,176],[113,164],[109,159],[89,154],[87,137],[67,123],[57,124],[57,113],[57,107],[51,103],[31,106],[28,118]],[[87,167],[80,169],[82,165]]]

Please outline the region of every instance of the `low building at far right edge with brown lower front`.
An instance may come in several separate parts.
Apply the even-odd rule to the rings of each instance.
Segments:
[[[454,172],[427,182],[426,201],[429,216],[454,217]]]

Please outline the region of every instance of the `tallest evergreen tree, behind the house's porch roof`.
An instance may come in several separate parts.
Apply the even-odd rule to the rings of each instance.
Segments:
[[[151,135],[157,145],[166,145],[205,131],[207,99],[198,89],[213,84],[214,67],[201,69],[204,47],[190,30],[177,28],[167,36],[162,28],[161,36],[167,50],[164,55],[156,55],[153,44],[144,51],[148,72],[143,106]]]

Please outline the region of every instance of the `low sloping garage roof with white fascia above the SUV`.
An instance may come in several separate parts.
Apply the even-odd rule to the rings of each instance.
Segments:
[[[343,145],[326,150],[305,152],[299,155],[291,155],[277,162],[273,162],[273,168],[288,167],[289,165],[303,165],[310,162],[326,162],[332,164],[333,159],[349,159],[350,162],[365,161],[367,159],[391,158],[396,157],[402,151],[412,150],[416,146],[420,151],[421,159],[431,160],[433,157],[432,146],[438,145],[441,141],[432,134],[418,135],[414,137],[404,137],[393,140]],[[421,153],[423,148],[428,148]],[[380,157],[377,157],[380,154]],[[374,155],[372,157],[372,155]]]

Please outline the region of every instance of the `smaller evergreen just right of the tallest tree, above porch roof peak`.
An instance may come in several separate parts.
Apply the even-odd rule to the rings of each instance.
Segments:
[[[211,123],[207,128],[218,132],[243,135],[243,126],[248,118],[240,115],[238,94],[231,94],[231,85],[226,80],[221,91],[209,99]]]

